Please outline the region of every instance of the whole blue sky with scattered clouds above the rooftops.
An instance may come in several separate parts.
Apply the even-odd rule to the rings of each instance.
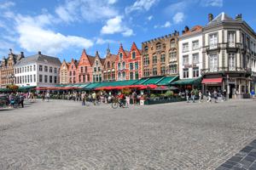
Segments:
[[[254,0],[0,0],[0,56],[13,48],[70,60],[85,48],[104,57],[108,43],[113,54],[119,43],[141,48],[184,26],[205,26],[209,13],[242,14],[256,30],[255,6]]]

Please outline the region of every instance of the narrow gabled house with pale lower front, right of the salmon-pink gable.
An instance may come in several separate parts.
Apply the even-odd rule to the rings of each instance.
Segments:
[[[95,59],[92,65],[93,68],[93,82],[102,82],[102,70],[105,59],[100,58],[98,51],[96,51]]]

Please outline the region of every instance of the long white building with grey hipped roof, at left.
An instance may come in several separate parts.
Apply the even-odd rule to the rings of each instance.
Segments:
[[[38,52],[15,65],[15,84],[20,87],[53,87],[60,83],[61,61]]]

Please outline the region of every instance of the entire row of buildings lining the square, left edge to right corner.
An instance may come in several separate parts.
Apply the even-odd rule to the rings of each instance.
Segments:
[[[32,81],[38,82],[37,86],[46,86],[54,82],[112,82],[179,76],[177,82],[172,82],[173,85],[183,88],[197,86],[204,92],[213,88],[219,91],[226,89],[231,96],[247,94],[255,88],[256,82],[256,34],[242,20],[241,14],[235,19],[224,13],[215,18],[208,14],[206,26],[191,29],[185,26],[181,34],[174,31],[143,42],[141,49],[135,43],[132,43],[130,50],[120,45],[119,51],[112,54],[108,48],[105,57],[100,57],[97,52],[91,56],[83,50],[79,60],[64,60],[62,64],[43,54],[27,58],[12,52],[8,59],[4,58],[0,83],[10,83],[12,79],[9,75],[13,75],[20,86],[30,85]],[[38,72],[24,75],[28,68],[23,65],[28,65],[31,71],[30,65],[34,68],[34,64],[28,63],[32,62],[38,63],[35,64],[35,71]],[[13,67],[19,69],[12,70]]]

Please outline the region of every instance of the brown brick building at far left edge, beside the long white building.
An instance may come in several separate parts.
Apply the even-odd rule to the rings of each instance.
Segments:
[[[8,58],[3,57],[0,65],[0,88],[6,88],[6,85],[15,83],[14,66],[22,58],[24,58],[23,52],[13,54],[12,49],[10,49]]]

